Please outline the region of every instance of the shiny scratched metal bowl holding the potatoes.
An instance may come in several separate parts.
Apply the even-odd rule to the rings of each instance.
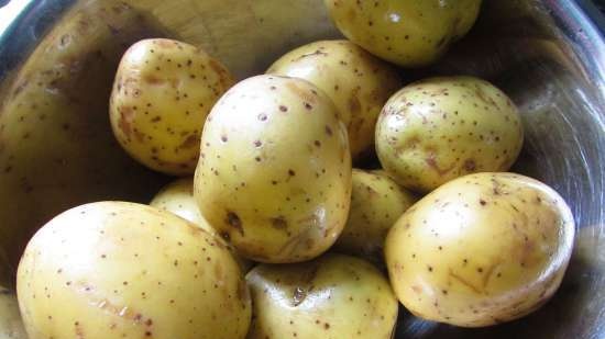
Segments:
[[[408,80],[475,75],[504,89],[520,108],[527,135],[514,171],[559,191],[573,210],[579,231],[560,291],[535,314],[496,327],[462,329],[404,310],[396,338],[605,338],[605,42],[598,25],[598,12],[585,12],[574,1],[486,0],[471,34],[440,63],[402,70]],[[145,201],[166,181],[124,158],[111,142],[106,116],[112,67],[130,43],[151,36],[200,45],[244,78],[292,47],[340,35],[320,0],[31,2],[0,41],[0,261],[14,265],[32,231],[62,210],[103,199]],[[77,44],[86,45],[82,55],[63,54],[51,63],[55,66],[47,66],[51,70],[30,65],[41,63],[48,48],[78,52]],[[108,75],[95,68],[96,63],[103,63]],[[79,116],[74,128],[86,133],[76,148],[51,149],[57,135],[72,136],[74,128],[33,123],[34,113],[26,115],[28,126],[37,133],[36,145],[50,146],[29,150],[28,160],[19,162],[23,176],[7,176],[2,171],[9,157],[23,152],[15,146],[23,135],[9,133],[20,131],[12,116],[16,113],[9,110],[11,101],[32,86],[24,79],[35,79],[36,71],[53,77],[53,67],[55,80],[69,75],[78,81],[43,90],[74,100],[69,110]],[[78,97],[91,91],[95,95]],[[96,148],[99,140],[105,149]],[[120,176],[128,181],[116,180]],[[52,201],[57,196],[64,199]],[[19,231],[7,230],[13,228]]]

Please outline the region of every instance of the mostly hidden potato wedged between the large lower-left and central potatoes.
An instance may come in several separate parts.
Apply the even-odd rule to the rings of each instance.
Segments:
[[[199,212],[198,204],[194,197],[194,178],[177,179],[162,189],[150,203],[151,206],[172,212],[182,218],[194,223],[204,230],[217,236],[217,240],[222,240],[217,230],[208,224]],[[248,272],[252,269],[253,262],[243,259],[238,251],[226,242],[233,258],[238,261],[242,271]]]

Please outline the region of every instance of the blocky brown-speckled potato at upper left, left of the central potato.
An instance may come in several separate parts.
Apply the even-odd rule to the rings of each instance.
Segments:
[[[113,134],[139,162],[193,174],[206,116],[234,83],[204,50],[173,39],[143,39],[122,57],[110,99]]]

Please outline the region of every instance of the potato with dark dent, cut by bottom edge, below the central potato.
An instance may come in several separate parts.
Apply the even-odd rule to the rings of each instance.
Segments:
[[[246,275],[254,319],[248,339],[391,339],[397,300],[364,260],[327,255],[310,262],[256,267]]]

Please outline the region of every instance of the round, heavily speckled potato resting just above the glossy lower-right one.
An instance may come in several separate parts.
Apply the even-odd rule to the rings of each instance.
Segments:
[[[403,187],[429,192],[454,178],[507,171],[524,143],[519,113],[508,97],[472,77],[411,83],[384,106],[376,152]]]

